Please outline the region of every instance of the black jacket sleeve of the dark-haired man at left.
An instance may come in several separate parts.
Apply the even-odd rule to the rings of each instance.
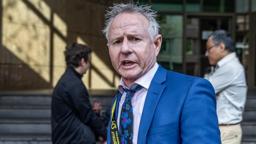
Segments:
[[[70,92],[70,97],[80,120],[87,126],[91,127],[96,135],[100,135],[104,140],[106,140],[106,127],[104,127],[100,118],[93,111],[89,101],[88,92],[83,83],[77,83],[74,85]]]

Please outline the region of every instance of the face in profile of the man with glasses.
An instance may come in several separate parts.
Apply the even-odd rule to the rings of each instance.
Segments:
[[[209,59],[211,65],[216,65],[217,62],[221,60],[221,49],[220,46],[215,45],[211,39],[212,36],[206,42],[205,56]]]

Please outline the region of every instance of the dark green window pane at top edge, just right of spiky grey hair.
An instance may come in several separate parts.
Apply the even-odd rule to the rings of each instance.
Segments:
[[[183,11],[183,0],[152,0],[156,11]]]

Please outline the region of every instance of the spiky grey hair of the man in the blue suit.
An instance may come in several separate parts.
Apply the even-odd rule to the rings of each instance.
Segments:
[[[138,4],[138,3],[137,3]],[[121,14],[121,13],[140,13],[148,20],[148,35],[151,39],[151,41],[154,41],[154,37],[158,35],[159,31],[159,24],[156,21],[157,11],[153,11],[151,9],[151,6],[147,5],[141,5],[137,6],[134,3],[128,3],[128,4],[113,4],[112,7],[109,7],[109,11],[107,11],[107,14],[105,15],[105,28],[102,30],[103,34],[105,35],[106,39],[108,39],[108,32],[109,27],[115,18],[115,16]]]

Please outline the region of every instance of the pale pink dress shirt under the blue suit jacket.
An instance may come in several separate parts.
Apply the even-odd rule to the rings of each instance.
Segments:
[[[134,89],[137,84],[143,86],[143,88],[137,92],[135,92],[134,96],[132,97],[132,110],[134,115],[134,130],[133,130],[133,137],[132,137],[132,143],[137,144],[138,139],[138,132],[139,132],[139,124],[141,121],[141,114],[143,111],[145,99],[148,93],[149,85],[156,73],[156,70],[158,69],[158,63],[155,63],[155,65],[148,70],[146,74],[144,74],[142,77],[136,79],[132,84],[129,85],[129,87],[126,87],[124,85],[124,82],[122,81],[122,78],[119,82],[118,90],[122,93],[121,100],[119,102],[119,109],[118,109],[118,116],[117,116],[117,126],[119,129],[119,120],[120,120],[120,113],[122,109],[122,104],[124,103],[126,92],[124,92],[124,89]]]

